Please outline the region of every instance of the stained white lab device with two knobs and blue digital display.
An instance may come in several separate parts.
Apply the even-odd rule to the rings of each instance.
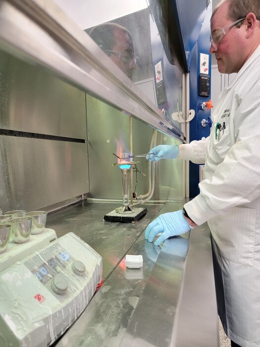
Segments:
[[[0,264],[1,347],[50,346],[102,281],[102,257],[72,232],[56,239],[45,229],[25,244],[10,241]]]

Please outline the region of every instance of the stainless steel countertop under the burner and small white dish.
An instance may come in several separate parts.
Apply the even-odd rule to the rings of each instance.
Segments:
[[[48,215],[47,227],[74,232],[103,257],[104,285],[53,346],[217,347],[218,322],[207,225],[166,240],[160,249],[144,239],[159,213],[180,202],[146,204],[135,224],[104,222],[115,203],[82,202]],[[126,254],[142,254],[140,269]]]

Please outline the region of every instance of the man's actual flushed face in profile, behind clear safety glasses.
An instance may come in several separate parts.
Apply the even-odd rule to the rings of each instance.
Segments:
[[[211,19],[210,29],[212,37],[221,29],[230,25],[233,20],[227,17],[228,3],[225,2],[215,12]],[[238,72],[245,62],[245,40],[243,40],[244,22],[241,26],[233,26],[225,35],[221,36],[216,47],[210,46],[209,53],[214,54],[220,73]]]

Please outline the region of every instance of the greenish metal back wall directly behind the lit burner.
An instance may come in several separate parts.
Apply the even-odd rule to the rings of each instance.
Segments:
[[[90,196],[96,199],[122,199],[122,178],[117,161],[112,153],[129,151],[129,116],[122,114],[107,104],[87,96],[87,124]],[[133,154],[143,154],[150,150],[154,129],[133,119]],[[121,146],[117,147],[118,142]],[[161,133],[157,134],[157,144],[179,144]],[[137,169],[145,173],[133,174],[133,187],[138,195],[148,191],[148,162],[136,158]],[[183,161],[161,160],[156,164],[156,188],[152,200],[182,200]]]

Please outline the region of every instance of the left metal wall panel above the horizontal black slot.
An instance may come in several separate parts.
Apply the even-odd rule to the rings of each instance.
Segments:
[[[0,51],[0,128],[85,139],[85,93]]]

